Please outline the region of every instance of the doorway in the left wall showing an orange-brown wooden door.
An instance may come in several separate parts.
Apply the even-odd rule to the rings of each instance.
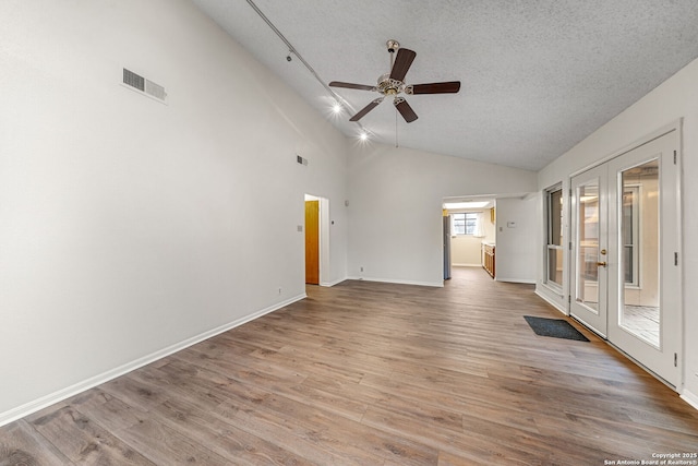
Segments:
[[[312,194],[305,201],[305,284],[326,286],[329,273],[329,200]]]

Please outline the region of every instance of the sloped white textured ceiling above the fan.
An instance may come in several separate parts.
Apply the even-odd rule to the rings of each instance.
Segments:
[[[243,0],[194,0],[341,132],[332,95]],[[400,146],[538,170],[698,57],[696,0],[254,0],[325,83],[374,85],[387,39],[417,52],[407,84],[460,80],[459,94],[406,96]],[[334,88],[353,111],[378,94]],[[389,99],[361,123],[396,142]]]

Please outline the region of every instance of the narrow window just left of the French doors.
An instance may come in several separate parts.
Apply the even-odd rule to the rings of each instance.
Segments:
[[[546,283],[562,289],[563,286],[563,188],[557,186],[545,192],[546,211]]]

